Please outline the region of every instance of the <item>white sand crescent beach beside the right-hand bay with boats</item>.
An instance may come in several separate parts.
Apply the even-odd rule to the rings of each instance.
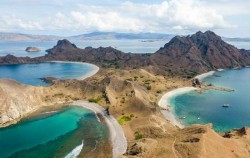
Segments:
[[[161,99],[158,102],[158,105],[163,108],[164,110],[161,110],[162,114],[164,115],[165,119],[169,120],[171,124],[178,126],[179,128],[183,128],[184,125],[176,118],[176,116],[173,113],[173,109],[170,104],[170,99],[173,96],[177,96],[180,94],[184,94],[193,90],[196,90],[197,88],[194,87],[182,87],[174,89],[170,92],[165,93]]]

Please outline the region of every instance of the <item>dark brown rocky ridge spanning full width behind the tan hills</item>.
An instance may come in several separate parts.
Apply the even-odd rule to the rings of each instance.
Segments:
[[[10,55],[0,57],[0,64],[81,61],[102,68],[144,68],[154,74],[181,75],[187,78],[219,68],[250,65],[249,51],[237,49],[211,31],[197,32],[191,36],[176,36],[154,54],[124,53],[112,47],[80,49],[66,39],[59,40],[57,45],[47,52],[43,57],[32,59]]]

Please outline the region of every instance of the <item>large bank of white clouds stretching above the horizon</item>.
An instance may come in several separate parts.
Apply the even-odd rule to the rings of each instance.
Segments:
[[[24,30],[171,32],[232,28],[223,15],[201,0],[166,0],[160,4],[123,2],[115,6],[76,4],[69,12],[26,21],[1,16],[4,28]],[[32,16],[32,15],[30,15]]]

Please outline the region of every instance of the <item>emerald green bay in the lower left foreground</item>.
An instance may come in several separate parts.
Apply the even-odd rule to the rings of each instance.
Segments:
[[[56,113],[41,113],[0,129],[0,157],[65,157],[84,142],[93,150],[108,141],[108,128],[91,111],[71,106]]]

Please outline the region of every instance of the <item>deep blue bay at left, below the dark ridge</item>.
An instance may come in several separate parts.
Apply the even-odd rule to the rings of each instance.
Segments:
[[[48,85],[40,78],[55,77],[60,79],[79,78],[93,71],[88,64],[40,63],[0,65],[0,78],[14,79],[29,85]]]

